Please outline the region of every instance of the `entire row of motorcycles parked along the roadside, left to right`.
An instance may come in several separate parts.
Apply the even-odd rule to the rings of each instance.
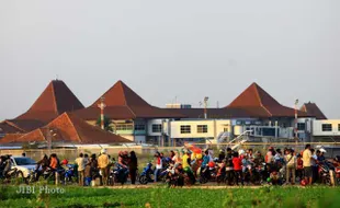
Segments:
[[[275,169],[269,166],[265,163],[261,164],[251,164],[247,166],[243,172],[237,173],[234,171],[228,171],[228,167],[220,167],[220,163],[217,161],[212,163],[214,165],[207,165],[201,170],[201,167],[194,167],[192,174],[189,174],[185,171],[174,172],[174,166],[170,163],[166,163],[163,169],[157,175],[157,181],[167,183],[169,186],[175,185],[193,185],[195,181],[199,181],[200,184],[206,184],[208,182],[215,182],[217,184],[235,185],[238,182],[242,184],[251,185],[263,185],[263,184],[275,184],[282,185],[286,183],[285,177],[285,166],[282,164],[276,165]],[[56,174],[58,173],[58,174]],[[148,184],[155,181],[155,169],[152,163],[147,163],[140,174],[137,174],[137,180],[140,184]],[[67,164],[66,169],[52,170],[49,167],[44,171],[33,171],[27,178],[23,178],[20,175],[20,171],[13,169],[8,173],[4,180],[18,180],[21,178],[26,184],[36,182],[38,178],[45,181],[55,182],[56,175],[59,177],[60,184],[72,184],[78,182],[78,174],[73,164]],[[123,167],[120,164],[113,165],[109,172],[109,185],[115,184],[125,184],[128,181],[128,169]],[[191,175],[195,176],[195,180]],[[2,174],[0,177],[3,177]],[[302,182],[304,177],[303,171],[296,173],[296,182]],[[336,166],[329,161],[324,161],[318,164],[318,177],[319,182],[325,185],[340,185],[340,166]],[[101,178],[101,173],[98,172],[93,175],[92,180]],[[271,180],[269,180],[271,178]]]

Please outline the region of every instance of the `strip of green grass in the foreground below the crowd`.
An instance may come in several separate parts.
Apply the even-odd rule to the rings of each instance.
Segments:
[[[54,186],[50,186],[54,187]],[[0,187],[0,207],[321,207],[340,205],[340,188],[262,187],[230,189],[65,187],[65,194],[16,194]]]

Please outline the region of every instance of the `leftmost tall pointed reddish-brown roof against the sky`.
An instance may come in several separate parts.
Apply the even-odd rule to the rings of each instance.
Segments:
[[[81,108],[83,108],[83,105],[64,81],[53,80],[30,109],[15,119],[49,122],[64,112]]]

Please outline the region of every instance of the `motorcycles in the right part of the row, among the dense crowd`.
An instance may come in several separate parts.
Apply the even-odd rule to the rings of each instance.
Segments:
[[[212,165],[214,164],[214,165]],[[168,183],[171,185],[193,185],[195,183],[188,172],[174,173],[173,166],[166,164],[165,167],[157,175],[157,181]],[[195,178],[200,184],[206,184],[208,182],[215,182],[218,185],[283,185],[286,184],[286,169],[282,163],[273,163],[271,165],[261,164],[250,164],[240,172],[234,172],[228,170],[228,167],[220,167],[220,163],[217,161],[206,165],[201,170],[201,167],[192,167]],[[155,169],[152,164],[148,163],[139,176],[140,184],[148,184],[154,182]],[[325,185],[335,186],[340,185],[340,166],[336,166],[329,161],[322,161],[317,166],[318,182]],[[296,177],[294,183],[302,183],[304,181],[304,171],[296,171]],[[182,180],[183,182],[178,182]],[[292,177],[290,178],[292,182]]]

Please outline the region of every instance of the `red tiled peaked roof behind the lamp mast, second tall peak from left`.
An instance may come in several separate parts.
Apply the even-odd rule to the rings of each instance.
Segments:
[[[182,118],[183,115],[172,113],[165,108],[151,106],[137,93],[129,89],[123,81],[116,82],[110,90],[100,96],[91,106],[77,111],[76,114],[82,119],[98,119],[100,109],[98,105],[104,97],[106,105],[105,116],[111,119],[135,118]]]

